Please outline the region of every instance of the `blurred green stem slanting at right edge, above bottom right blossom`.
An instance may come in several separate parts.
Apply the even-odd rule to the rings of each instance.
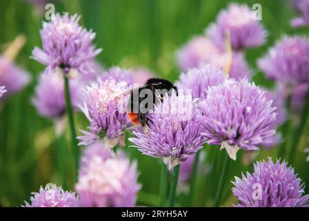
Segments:
[[[301,134],[303,133],[303,129],[306,127],[309,113],[309,93],[306,94],[306,102],[303,104],[303,111],[301,111],[301,118],[299,119],[299,125],[293,131],[292,142],[288,152],[288,162],[293,164],[295,153],[297,151],[297,146],[299,145],[299,141],[301,138]]]

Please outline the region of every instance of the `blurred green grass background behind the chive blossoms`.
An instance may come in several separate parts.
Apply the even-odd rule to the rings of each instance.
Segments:
[[[191,37],[201,35],[219,10],[232,1],[218,0],[66,0],[55,1],[56,11],[81,14],[81,24],[97,32],[94,43],[103,48],[97,57],[106,67],[119,65],[126,68],[145,66],[157,75],[175,81],[179,70],[175,63],[177,48]],[[269,32],[268,41],[260,48],[248,50],[246,58],[255,73],[257,84],[272,86],[256,66],[256,59],[266,52],[283,35],[308,35],[305,28],[293,30],[290,19],[294,16],[287,1],[233,1],[260,3],[262,23]],[[63,184],[61,173],[66,173],[66,189],[73,189],[70,171],[70,142],[68,131],[63,137],[54,134],[53,122],[40,117],[30,102],[43,66],[30,59],[34,46],[41,46],[39,30],[44,17],[28,2],[21,0],[0,1],[0,52],[19,34],[27,37],[26,46],[17,57],[17,64],[32,75],[31,84],[17,95],[1,104],[0,111],[0,206],[19,206],[30,198],[39,186],[53,182]],[[86,128],[88,122],[81,114],[75,116],[77,128]],[[308,127],[307,127],[308,128]],[[308,131],[308,130],[307,130]],[[130,133],[127,133],[129,136]],[[308,132],[307,132],[308,135]],[[299,176],[309,185],[309,166],[301,149],[306,147],[305,138],[299,146],[295,167]],[[129,144],[128,144],[129,145]],[[60,151],[59,151],[60,150]],[[141,155],[133,148],[126,148],[132,159],[139,164],[139,182],[143,185],[138,204],[155,205],[159,192],[159,162]],[[212,166],[208,175],[199,175],[195,206],[210,206],[219,180],[223,153],[219,148],[206,147],[205,166]],[[60,154],[59,154],[60,153]],[[262,151],[259,159],[277,156],[277,148]],[[214,160],[216,159],[216,160]],[[223,206],[236,202],[232,197],[230,180],[248,167],[239,160],[233,162],[228,183],[223,194]],[[308,193],[308,189],[306,189]],[[181,193],[179,206],[186,206],[188,195]]]

